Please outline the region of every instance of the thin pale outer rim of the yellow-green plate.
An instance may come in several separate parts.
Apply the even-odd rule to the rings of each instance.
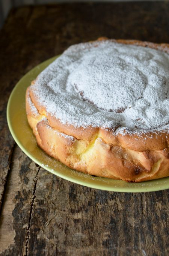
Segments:
[[[135,186],[134,187],[115,187],[114,185],[112,185],[112,187],[110,187],[110,185],[107,186],[101,186],[99,184],[95,184],[95,183],[90,183],[88,181],[81,181],[80,179],[74,179],[73,177],[68,177],[66,175],[64,175],[63,173],[60,174],[57,172],[57,170],[53,170],[50,167],[45,166],[41,161],[39,161],[38,159],[36,159],[31,153],[29,153],[27,151],[27,149],[25,148],[25,146],[23,146],[23,144],[20,142],[20,140],[17,138],[17,135],[15,134],[15,131],[12,127],[12,123],[11,123],[11,119],[10,119],[10,106],[11,106],[11,101],[12,98],[14,97],[15,91],[20,88],[22,81],[26,78],[29,77],[30,73],[33,72],[35,69],[37,69],[39,66],[43,66],[45,65],[47,62],[51,63],[52,61],[54,61],[57,57],[59,57],[59,55],[56,55],[54,57],[51,57],[41,63],[39,63],[38,65],[36,65],[35,67],[33,67],[30,71],[28,71],[25,75],[23,75],[23,77],[21,77],[21,79],[17,82],[17,84],[14,86],[14,88],[11,91],[11,94],[9,96],[8,99],[8,104],[7,104],[7,110],[6,110],[6,117],[7,117],[7,123],[8,123],[8,127],[9,130],[12,134],[12,137],[14,138],[15,143],[17,143],[17,145],[20,147],[20,149],[30,158],[32,159],[36,164],[38,164],[39,166],[41,166],[43,169],[47,170],[48,172],[59,176],[60,178],[66,179],[67,181],[71,181],[74,182],[76,184],[80,184],[86,187],[91,187],[94,189],[100,189],[100,190],[105,190],[105,191],[112,191],[112,192],[121,192],[121,193],[142,193],[142,192],[155,192],[155,191],[160,191],[160,190],[166,190],[169,189],[169,177],[165,177],[162,179],[168,179],[168,182],[165,182],[164,184],[160,185],[159,188],[154,187],[154,186],[149,186],[149,187],[136,187],[137,183],[133,183]],[[42,72],[42,71],[40,71]],[[40,73],[39,72],[39,73]],[[41,149],[42,150],[42,149]],[[43,150],[42,150],[43,151]],[[44,152],[44,151],[43,151]],[[45,153],[45,152],[44,152]],[[54,158],[53,158],[54,159]],[[56,160],[57,161],[57,160]],[[78,171],[77,171],[78,172]],[[84,173],[81,173],[82,175],[84,175]],[[93,177],[95,178],[95,177]],[[108,178],[104,178],[104,179],[108,179]],[[94,179],[92,179],[94,180]],[[156,179],[156,180],[151,180],[151,181],[159,181],[160,179]],[[118,180],[118,182],[120,182]],[[149,182],[149,181],[144,181],[144,182],[139,182],[139,184],[145,184],[145,182]]]

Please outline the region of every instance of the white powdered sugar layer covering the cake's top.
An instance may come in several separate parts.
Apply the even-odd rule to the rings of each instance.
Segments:
[[[112,41],[68,48],[32,85],[40,104],[74,126],[168,128],[169,55]]]

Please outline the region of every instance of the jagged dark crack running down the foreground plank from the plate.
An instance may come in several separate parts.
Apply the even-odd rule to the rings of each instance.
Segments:
[[[37,173],[35,175],[35,178],[33,179],[33,181],[35,183],[34,183],[33,193],[32,193],[32,202],[31,202],[31,205],[30,205],[29,222],[28,222],[28,227],[27,227],[27,236],[26,236],[25,255],[24,256],[28,255],[28,243],[29,243],[29,239],[30,239],[30,224],[31,224],[31,219],[32,219],[33,205],[34,205],[34,201],[35,201],[35,198],[36,198],[36,195],[35,195],[36,184],[37,184],[37,181],[38,181],[38,173],[39,173],[40,169],[41,169],[41,166],[38,167],[38,171],[37,171]]]

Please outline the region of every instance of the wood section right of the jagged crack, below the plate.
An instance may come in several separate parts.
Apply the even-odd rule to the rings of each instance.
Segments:
[[[44,255],[142,255],[143,251],[160,255],[160,248],[167,255],[166,216],[157,233],[158,216],[169,206],[167,196],[168,192],[132,195],[95,190],[39,172],[29,255],[40,255],[43,249]]]

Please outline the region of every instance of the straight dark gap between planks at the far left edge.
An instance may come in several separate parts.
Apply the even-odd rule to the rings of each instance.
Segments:
[[[9,177],[9,173],[11,170],[11,166],[12,166],[12,158],[13,158],[13,154],[14,154],[14,149],[15,149],[16,143],[14,143],[13,147],[11,148],[11,151],[9,153],[9,158],[8,158],[8,162],[9,162],[9,167],[8,167],[8,171],[7,171],[7,175],[5,177],[5,184],[4,184],[4,189],[1,193],[1,201],[0,201],[0,216],[1,216],[1,212],[2,212],[2,206],[3,206],[3,201],[4,201],[4,196],[5,196],[5,192],[6,192],[6,185],[8,182],[8,177]]]

